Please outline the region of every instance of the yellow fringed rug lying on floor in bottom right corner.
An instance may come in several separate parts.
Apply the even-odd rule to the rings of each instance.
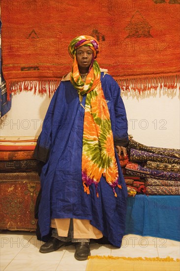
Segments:
[[[86,271],[180,271],[180,259],[90,256]]]

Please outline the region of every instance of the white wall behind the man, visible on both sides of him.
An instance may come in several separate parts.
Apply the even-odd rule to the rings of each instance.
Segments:
[[[149,146],[180,148],[179,90],[138,93],[122,92],[128,133]],[[1,123],[1,136],[39,135],[50,98],[23,91],[12,97],[12,107]]]

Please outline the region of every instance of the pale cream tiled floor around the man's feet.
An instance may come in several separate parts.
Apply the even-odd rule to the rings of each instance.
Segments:
[[[87,261],[74,258],[74,246],[42,254],[43,244],[34,233],[2,231],[0,234],[0,271],[85,271]],[[124,257],[180,258],[180,242],[137,235],[124,236],[121,248],[90,244],[91,255]]]

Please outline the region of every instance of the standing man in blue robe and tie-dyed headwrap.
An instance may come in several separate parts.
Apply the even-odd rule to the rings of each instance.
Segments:
[[[90,238],[120,247],[127,189],[115,146],[126,154],[127,119],[120,88],[96,57],[98,41],[78,36],[69,45],[72,71],[48,108],[34,156],[45,165],[38,222],[48,253],[75,243],[75,258],[90,255]]]

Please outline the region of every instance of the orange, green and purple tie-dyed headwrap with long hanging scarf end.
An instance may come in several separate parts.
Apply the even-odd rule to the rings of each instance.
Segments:
[[[81,78],[76,60],[76,49],[80,46],[89,46],[93,51],[86,82]],[[97,57],[98,48],[98,41],[87,35],[74,38],[68,48],[70,56],[74,58],[70,81],[79,95],[87,94],[83,132],[82,181],[87,194],[90,194],[89,186],[94,183],[98,197],[97,186],[103,175],[117,197],[115,187],[121,188],[121,186],[118,184],[119,174],[110,114],[101,87],[100,68],[94,60]]]

